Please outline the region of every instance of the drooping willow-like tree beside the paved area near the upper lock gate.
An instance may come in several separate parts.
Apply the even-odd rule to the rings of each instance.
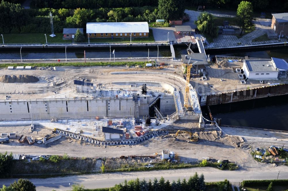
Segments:
[[[200,32],[209,34],[212,38],[218,36],[219,28],[215,26],[214,17],[210,13],[200,13],[198,20],[195,21],[195,24]]]

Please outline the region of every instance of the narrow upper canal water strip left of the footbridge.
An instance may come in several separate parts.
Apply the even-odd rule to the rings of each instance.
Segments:
[[[181,58],[181,54],[187,54],[186,45],[175,47],[175,55]],[[149,49],[149,50],[148,50]],[[75,49],[67,47],[67,59],[69,58],[84,58],[84,50],[86,58],[110,58],[109,48],[89,48],[89,49]],[[115,58],[130,58],[130,57],[157,57],[157,47],[130,47],[130,48],[111,48],[111,58],[114,57],[113,50],[115,50]],[[196,50],[195,50],[196,51]],[[196,51],[197,52],[197,51]],[[22,59],[65,59],[65,48],[57,49],[24,49],[21,50]],[[170,47],[159,47],[159,57],[171,57]],[[0,59],[21,59],[19,50],[0,49]]]

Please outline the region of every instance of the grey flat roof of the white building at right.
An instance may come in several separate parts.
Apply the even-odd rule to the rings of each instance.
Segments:
[[[272,60],[270,59],[245,60],[245,63],[250,72],[276,72],[277,71],[272,66]]]

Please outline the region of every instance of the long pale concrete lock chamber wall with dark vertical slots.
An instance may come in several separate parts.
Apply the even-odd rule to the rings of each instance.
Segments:
[[[134,101],[127,99],[90,99],[90,100],[13,100],[0,102],[1,120],[94,118],[95,116],[134,115]]]

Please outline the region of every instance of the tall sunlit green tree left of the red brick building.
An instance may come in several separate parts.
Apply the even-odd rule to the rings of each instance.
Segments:
[[[244,29],[251,28],[254,26],[253,20],[253,6],[252,3],[248,1],[241,1],[238,5],[236,13],[236,23],[241,28],[240,36]]]

